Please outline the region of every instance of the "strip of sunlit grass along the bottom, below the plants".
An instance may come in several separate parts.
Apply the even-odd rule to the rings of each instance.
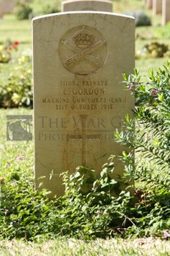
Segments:
[[[85,242],[76,239],[56,239],[40,243],[0,241],[0,256],[168,256],[170,244],[161,239],[96,239]]]

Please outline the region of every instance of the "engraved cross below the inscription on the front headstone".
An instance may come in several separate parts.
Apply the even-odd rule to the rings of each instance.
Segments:
[[[82,125],[82,132],[81,135],[67,135],[68,140],[82,140],[82,165],[85,166],[85,140],[100,140],[99,135],[86,135],[85,131],[85,122],[86,122],[87,115],[80,115],[81,125]]]

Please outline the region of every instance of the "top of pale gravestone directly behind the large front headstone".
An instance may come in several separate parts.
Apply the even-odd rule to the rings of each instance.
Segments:
[[[66,0],[62,2],[62,12],[70,11],[113,12],[113,3],[108,0]]]

